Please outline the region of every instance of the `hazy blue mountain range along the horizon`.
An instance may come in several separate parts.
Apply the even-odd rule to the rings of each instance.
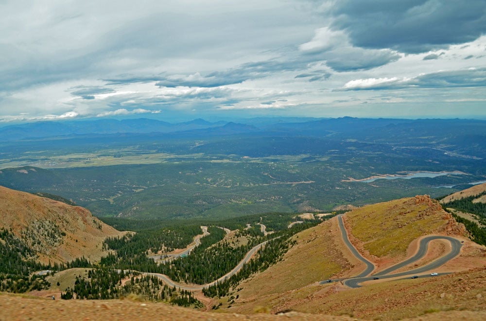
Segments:
[[[312,136],[355,134],[373,139],[406,136],[434,136],[439,132],[484,137],[486,121],[462,119],[386,119],[386,118],[254,118],[234,122],[168,123],[155,119],[97,119],[84,121],[42,121],[0,128],[3,142],[45,139],[52,137],[80,137],[117,134],[175,134],[181,137],[262,133],[264,136]],[[173,135],[171,135],[173,136]],[[373,137],[374,136],[374,137]]]

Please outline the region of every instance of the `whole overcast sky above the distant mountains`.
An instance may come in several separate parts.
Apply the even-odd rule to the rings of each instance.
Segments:
[[[0,0],[0,35],[0,123],[486,119],[486,0]]]

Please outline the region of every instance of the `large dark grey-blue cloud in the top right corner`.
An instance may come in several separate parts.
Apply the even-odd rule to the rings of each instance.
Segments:
[[[421,53],[471,42],[486,33],[485,0],[341,0],[323,14],[353,46]]]

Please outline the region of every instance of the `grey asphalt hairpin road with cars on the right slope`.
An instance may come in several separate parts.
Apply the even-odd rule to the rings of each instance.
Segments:
[[[349,250],[353,253],[353,255],[366,264],[366,269],[362,273],[360,273],[359,275],[357,275],[353,278],[321,281],[321,282],[319,282],[320,284],[330,282],[330,281],[331,282],[332,281],[343,281],[343,283],[350,288],[359,288],[360,287],[359,283],[364,282],[364,281],[368,281],[368,280],[373,280],[377,277],[380,277],[380,279],[387,279],[387,278],[392,278],[392,277],[410,276],[410,275],[415,275],[417,273],[430,272],[430,271],[442,266],[443,264],[445,264],[446,262],[448,262],[452,258],[456,257],[457,255],[459,255],[459,253],[461,251],[461,242],[459,240],[455,239],[455,238],[452,238],[450,236],[427,236],[427,237],[423,238],[422,240],[420,240],[418,251],[413,257],[410,257],[410,258],[408,258],[408,259],[406,259],[402,262],[399,262],[399,263],[397,263],[397,264],[395,264],[395,265],[393,265],[393,266],[391,266],[391,267],[389,267],[389,268],[387,268],[387,269],[385,269],[381,272],[375,273],[373,276],[368,276],[370,273],[372,273],[374,271],[375,266],[373,265],[373,263],[371,263],[370,261],[365,259],[349,241],[349,239],[347,237],[346,228],[344,227],[344,224],[343,224],[342,216],[343,216],[342,214],[338,215],[338,221],[339,221],[339,228],[341,229],[341,235],[343,237],[343,241],[346,244],[346,246],[349,248]],[[412,264],[414,262],[417,262],[419,259],[424,257],[427,254],[427,249],[428,249],[429,243],[431,241],[434,241],[434,240],[449,241],[451,243],[451,251],[449,253],[447,253],[446,255],[441,256],[441,257],[435,259],[434,261],[432,261],[431,263],[426,264],[424,266],[418,267],[418,268],[413,269],[413,270],[405,271],[405,272],[390,274],[391,272],[399,270],[399,269],[401,269],[401,268],[403,268],[403,267],[405,267],[409,264]],[[439,273],[439,275],[442,275],[442,274],[448,274],[448,273]],[[430,275],[425,275],[425,276],[428,277]],[[425,276],[422,275],[421,277],[425,277]]]

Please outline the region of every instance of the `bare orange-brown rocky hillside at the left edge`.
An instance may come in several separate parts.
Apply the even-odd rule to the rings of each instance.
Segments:
[[[14,191],[0,186],[0,228],[12,230],[47,263],[76,257],[97,261],[107,236],[122,232],[93,217],[78,206]]]

